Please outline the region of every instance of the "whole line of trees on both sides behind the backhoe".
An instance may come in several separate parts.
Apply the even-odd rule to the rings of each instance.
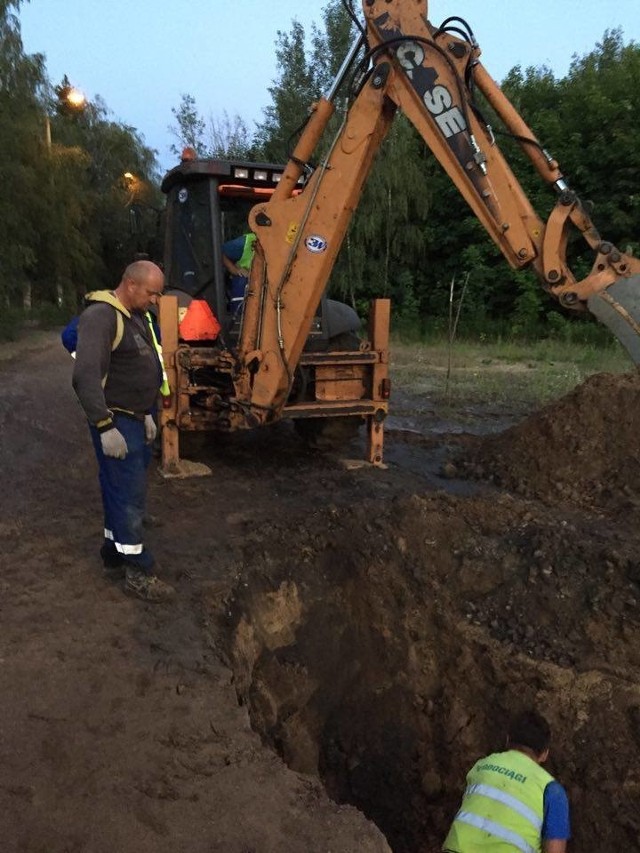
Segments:
[[[161,257],[162,206],[155,152],[133,127],[114,121],[103,102],[73,111],[63,80],[54,86],[44,58],[26,55],[22,0],[0,0],[0,324],[12,310],[76,310],[88,289],[111,286],[136,251]],[[325,92],[356,34],[347,4],[329,0],[310,32],[293,21],[274,47],[277,74],[262,121],[206,120],[184,94],[172,109],[176,154],[283,162],[310,104]],[[490,68],[490,58],[488,60]],[[231,73],[231,72],[230,72]],[[640,249],[640,46],[607,31],[557,77],[546,67],[513,68],[507,96],[571,186],[593,205],[593,217],[620,248]],[[328,145],[348,107],[339,93]],[[46,126],[50,128],[48,143]],[[555,197],[519,147],[501,148],[543,219]],[[322,152],[321,152],[322,153]],[[128,177],[125,177],[128,175]],[[576,273],[586,258],[576,257]],[[537,336],[590,333],[546,296],[528,271],[512,271],[466,207],[413,127],[399,115],[378,154],[334,274],[333,295],[360,311],[372,296],[392,298],[398,327],[445,330],[452,291],[468,334]]]

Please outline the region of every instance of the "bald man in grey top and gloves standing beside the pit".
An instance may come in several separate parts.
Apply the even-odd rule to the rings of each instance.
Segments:
[[[96,291],[80,315],[73,388],[89,421],[104,508],[105,568],[124,570],[125,592],[166,601],[175,590],[153,572],[142,542],[149,448],[163,382],[159,346],[146,312],[162,295],[164,276],[135,261],[114,291]]]

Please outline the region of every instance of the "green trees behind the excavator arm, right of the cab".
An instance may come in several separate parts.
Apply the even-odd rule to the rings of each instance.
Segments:
[[[271,159],[288,156],[296,129],[329,87],[353,38],[352,22],[339,0],[325,7],[322,24],[313,28],[310,45],[296,21],[288,33],[278,34],[279,75],[258,131]],[[597,223],[607,239],[623,249],[638,248],[640,48],[625,46],[621,33],[608,32],[592,53],[574,60],[566,78],[556,78],[546,67],[516,67],[503,89],[544,147],[566,163],[576,190],[595,201]],[[525,195],[546,221],[555,193],[518,142],[501,133],[500,120],[478,97]],[[338,112],[342,104],[338,97]],[[569,243],[568,261],[578,279],[593,263],[579,235]],[[447,326],[451,281],[467,274],[461,335],[479,337],[491,330],[530,340],[572,336],[579,328],[592,335],[598,328],[559,313],[532,272],[508,266],[434,155],[398,115],[365,184],[333,271],[331,293],[357,307],[372,296],[391,296],[395,328],[433,333]]]

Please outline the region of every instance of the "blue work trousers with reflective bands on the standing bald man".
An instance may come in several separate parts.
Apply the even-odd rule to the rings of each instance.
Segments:
[[[104,509],[103,552],[150,574],[154,559],[142,541],[142,521],[151,449],[146,443],[143,421],[116,413],[113,423],[127,442],[128,452],[124,459],[105,456],[100,433],[89,426],[98,460]]]

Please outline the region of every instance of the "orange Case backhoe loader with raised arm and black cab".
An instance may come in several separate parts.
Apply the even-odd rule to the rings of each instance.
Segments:
[[[358,37],[330,91],[312,105],[284,167],[187,158],[165,178],[165,271],[168,293],[177,294],[160,308],[173,390],[161,414],[167,472],[180,467],[183,430],[252,428],[283,418],[316,424],[364,419],[367,459],[382,463],[389,302],[374,300],[368,335],[358,341],[353,312],[324,293],[374,156],[398,112],[508,263],[531,267],[565,308],[592,312],[640,362],[640,261],[600,237],[558,163],[480,62],[466,22],[447,18],[433,25],[426,0],[363,0],[362,11]],[[346,89],[350,100],[340,128],[312,169],[338,93]],[[555,193],[546,222],[502,155],[476,92]],[[242,204],[248,228],[230,221]],[[257,238],[239,319],[225,309],[221,258],[233,228],[250,229]],[[593,254],[580,280],[567,261],[572,229]],[[211,345],[180,340],[180,310],[193,297],[207,299],[221,320],[223,331]]]

